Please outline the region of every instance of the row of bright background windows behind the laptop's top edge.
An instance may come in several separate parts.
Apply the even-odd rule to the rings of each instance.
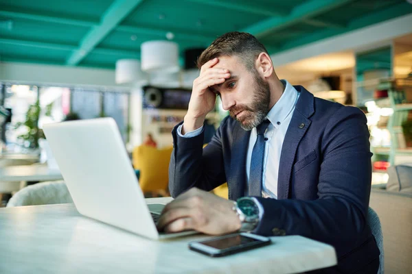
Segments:
[[[106,116],[115,119],[124,142],[128,141],[129,101],[127,92],[102,92],[90,88],[37,87],[6,84],[3,90],[4,107],[12,110],[12,121],[5,125],[5,140],[8,150],[25,152],[30,144],[18,137],[27,134],[24,125],[30,105],[40,105],[38,128],[46,123],[63,121],[69,112],[76,113],[80,119],[95,119]]]

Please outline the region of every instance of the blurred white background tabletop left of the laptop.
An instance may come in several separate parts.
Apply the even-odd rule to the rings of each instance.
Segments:
[[[45,164],[0,168],[0,184],[1,182],[42,182],[60,179],[63,179],[60,171],[49,169]]]

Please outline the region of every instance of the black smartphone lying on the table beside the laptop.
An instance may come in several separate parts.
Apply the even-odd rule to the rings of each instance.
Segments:
[[[201,242],[190,242],[189,249],[211,257],[222,257],[270,244],[270,238],[250,233],[237,233],[210,238]]]

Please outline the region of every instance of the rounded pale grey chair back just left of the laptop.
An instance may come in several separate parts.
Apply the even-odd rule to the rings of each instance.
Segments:
[[[13,195],[7,207],[38,206],[53,203],[73,203],[65,182],[43,182],[27,186]]]

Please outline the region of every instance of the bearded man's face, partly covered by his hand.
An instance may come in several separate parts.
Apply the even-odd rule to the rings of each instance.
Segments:
[[[211,86],[220,95],[222,106],[244,130],[251,130],[264,121],[269,112],[271,92],[258,71],[248,71],[237,56],[219,58],[218,69],[229,69],[231,77],[223,84]]]

